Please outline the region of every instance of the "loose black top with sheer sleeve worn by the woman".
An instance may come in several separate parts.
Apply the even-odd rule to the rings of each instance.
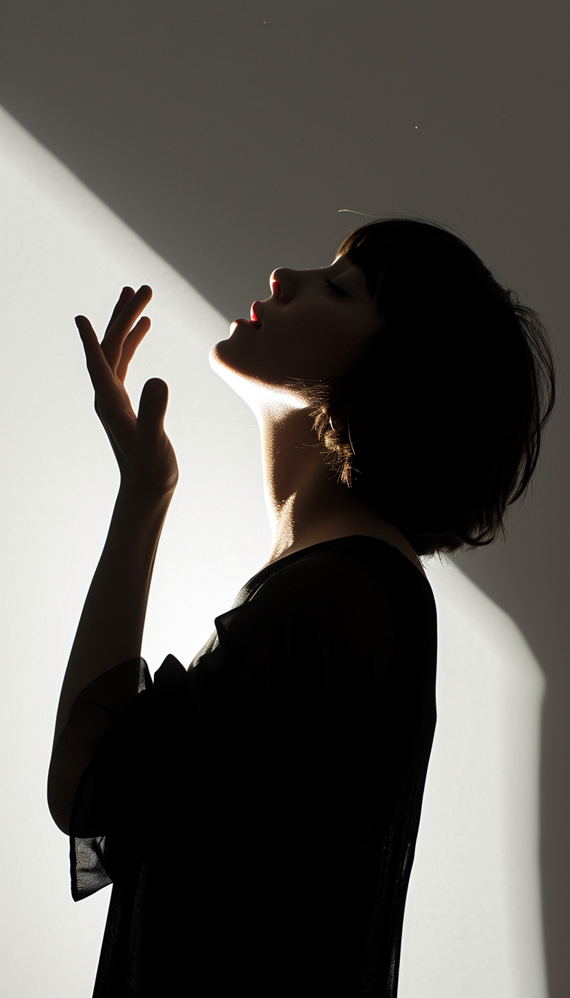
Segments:
[[[435,728],[431,587],[384,541],[343,537],[262,569],[215,624],[188,671],[169,655],[153,684],[124,662],[70,712],[98,743],[72,894],[113,883],[94,998],[394,998]]]

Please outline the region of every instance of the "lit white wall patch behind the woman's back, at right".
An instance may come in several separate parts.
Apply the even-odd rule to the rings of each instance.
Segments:
[[[437,726],[399,995],[542,998],[544,677],[517,626],[456,565],[423,561],[438,617]]]

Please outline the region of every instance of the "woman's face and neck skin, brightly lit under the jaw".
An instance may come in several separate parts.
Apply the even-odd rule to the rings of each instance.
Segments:
[[[339,256],[328,267],[279,267],[272,294],[252,306],[254,324],[232,323],[210,352],[213,369],[258,419],[266,508],[272,527],[267,564],[354,534],[377,537],[423,567],[407,539],[353,491],[339,486],[313,445],[316,434],[301,392],[286,377],[337,377],[381,328],[363,271]]]

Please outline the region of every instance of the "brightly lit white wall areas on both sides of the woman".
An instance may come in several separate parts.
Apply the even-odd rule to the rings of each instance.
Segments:
[[[4,998],[91,994],[108,891],[74,904],[46,804],[59,690],[118,486],[73,322],[101,333],[123,284],[153,326],[128,377],[170,387],[181,479],[143,655],[190,662],[265,563],[253,414],[211,370],[228,323],[0,114],[2,960]],[[453,565],[426,563],[439,617],[438,727],[406,909],[403,998],[543,998],[537,774],[543,679],[512,621]]]

